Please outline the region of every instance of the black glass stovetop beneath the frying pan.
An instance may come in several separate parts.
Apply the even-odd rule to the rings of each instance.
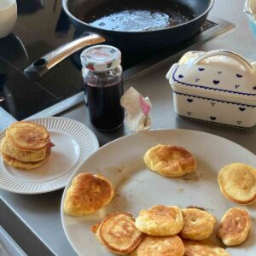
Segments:
[[[25,67],[74,38],[75,30],[61,8],[61,0],[17,0],[18,20],[15,30],[0,39],[0,113],[9,113],[17,120],[26,119],[55,105],[83,89],[79,54],[54,67],[38,82],[26,79]],[[207,20],[200,34],[218,26]],[[193,41],[193,40],[189,40]],[[180,50],[188,42],[172,46]],[[166,51],[166,49],[163,49]],[[168,50],[166,51],[168,53]],[[160,52],[123,55],[124,70]],[[0,114],[0,126],[1,118]]]

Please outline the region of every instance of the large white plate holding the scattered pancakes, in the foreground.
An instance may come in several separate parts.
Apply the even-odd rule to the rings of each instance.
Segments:
[[[198,162],[196,172],[185,177],[167,178],[149,171],[143,163],[143,155],[158,143],[177,144],[189,149]],[[80,255],[113,255],[96,240],[90,226],[109,212],[127,211],[137,217],[141,209],[156,204],[203,207],[219,221],[224,212],[235,205],[219,191],[218,170],[234,162],[256,166],[256,157],[236,143],[200,131],[147,131],[108,143],[85,160],[73,177],[80,172],[101,173],[113,182],[115,197],[96,214],[79,218],[68,216],[63,212],[63,200],[72,183],[71,177],[61,202],[61,219],[67,238]],[[252,232],[241,246],[227,249],[233,256],[254,256],[256,252],[256,203],[246,208],[253,219]],[[215,234],[212,241],[219,243]]]

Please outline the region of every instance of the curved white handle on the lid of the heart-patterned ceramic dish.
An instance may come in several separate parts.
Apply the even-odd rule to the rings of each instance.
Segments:
[[[201,55],[200,57],[198,57],[194,64],[200,64],[202,61],[212,57],[212,56],[227,56],[235,61],[237,61],[239,64],[241,64],[242,67],[245,68],[245,70],[248,72],[248,73],[252,73],[253,72],[253,66],[251,65],[250,62],[248,62],[245,58],[243,58],[241,55],[235,53],[235,52],[232,52],[232,51],[229,51],[229,50],[226,50],[226,49],[215,49],[215,50],[211,50],[211,51],[208,51],[206,54],[204,55]]]

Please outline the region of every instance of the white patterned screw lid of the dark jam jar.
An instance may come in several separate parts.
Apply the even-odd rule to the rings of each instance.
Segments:
[[[118,67],[121,63],[121,52],[110,45],[94,45],[84,49],[80,58],[83,67],[101,72]]]

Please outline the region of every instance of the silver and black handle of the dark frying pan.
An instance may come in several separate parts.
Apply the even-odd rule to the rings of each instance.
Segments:
[[[55,67],[55,65],[79,49],[91,44],[98,44],[105,41],[105,38],[102,38],[95,33],[89,33],[87,36],[64,44],[61,47],[49,52],[47,55],[44,55],[37,61],[34,61],[29,67],[26,67],[24,73],[28,79],[37,81],[38,79],[41,79],[45,73],[48,73],[52,67]]]

